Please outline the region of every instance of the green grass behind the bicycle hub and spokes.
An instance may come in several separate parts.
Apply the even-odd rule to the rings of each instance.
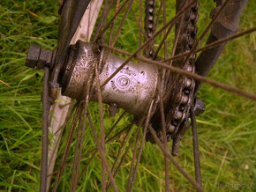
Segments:
[[[214,2],[200,1],[200,6],[199,33],[209,21],[208,14]],[[0,3],[0,191],[39,189],[43,72],[27,69],[24,63],[30,43],[49,49],[56,46],[57,9],[57,2],[49,0],[7,0]],[[173,6],[169,9],[170,18],[174,15]],[[241,31],[255,26],[255,11],[256,3],[251,0],[241,18]],[[127,51],[134,50],[134,44],[138,42],[138,28],[132,19],[129,15],[125,30],[117,41],[117,47]],[[255,49],[255,33],[230,42],[208,77],[256,93]],[[255,102],[209,85],[203,85],[199,95],[207,107],[205,114],[198,118],[203,187],[207,191],[255,190]],[[97,105],[91,104],[91,111],[97,117]],[[107,127],[112,121],[105,120]],[[131,116],[126,116],[119,128],[130,121]],[[87,151],[94,147],[94,141],[89,130],[86,134],[89,136],[85,141]],[[119,145],[118,140],[108,145],[109,161],[114,159]],[[131,157],[132,152],[117,177],[121,190],[125,187]],[[82,159],[82,163],[88,158]],[[177,161],[193,175],[190,131],[184,137]],[[71,170],[64,172],[62,191],[70,187]],[[192,190],[173,166],[170,166],[169,177],[170,188]],[[79,182],[78,190],[99,190],[100,180],[101,166],[97,156]],[[162,152],[155,145],[146,144],[134,191],[161,191],[163,181]]]

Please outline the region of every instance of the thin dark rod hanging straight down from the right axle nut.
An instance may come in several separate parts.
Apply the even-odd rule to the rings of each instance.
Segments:
[[[196,117],[193,110],[193,105],[190,109],[190,116],[192,122],[192,143],[193,143],[193,156],[194,156],[194,167],[195,167],[195,177],[197,183],[202,186],[201,181],[201,172],[200,172],[200,151],[199,151],[199,141],[198,141],[198,132],[197,132],[197,124]]]

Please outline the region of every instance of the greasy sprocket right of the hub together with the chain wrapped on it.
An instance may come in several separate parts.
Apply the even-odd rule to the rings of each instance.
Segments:
[[[177,1],[177,11],[183,9],[187,4],[191,2],[186,2],[184,0]],[[198,20],[198,10],[199,4],[193,4],[192,7],[185,11],[184,22],[182,23],[179,35],[177,36],[178,30],[181,25],[181,20],[177,22],[176,25],[176,38],[177,48],[175,50],[175,55],[189,51],[192,48],[193,43],[196,40],[197,33],[197,20]],[[187,63],[184,63],[185,58],[178,59],[172,64],[180,69],[187,70],[189,72],[195,72],[195,54],[190,56]],[[168,140],[172,137],[174,142],[179,142],[182,137],[180,136],[179,129],[183,129],[184,121],[188,119],[188,111],[190,108],[190,103],[192,101],[193,89],[195,81],[192,78],[187,78],[185,76],[177,75],[176,73],[169,73],[165,77],[165,83],[163,87],[163,92],[165,95],[163,97],[164,102],[164,113],[166,116],[166,133]],[[171,90],[171,91],[170,91]],[[161,129],[161,113],[158,111],[154,114],[152,119],[152,127],[156,131],[157,135],[162,138]],[[183,132],[183,131],[181,131]],[[178,137],[176,139],[175,137]],[[150,133],[147,134],[147,140],[154,143],[154,138]],[[173,144],[174,146],[179,146],[179,144]],[[178,151],[177,149],[173,149]]]

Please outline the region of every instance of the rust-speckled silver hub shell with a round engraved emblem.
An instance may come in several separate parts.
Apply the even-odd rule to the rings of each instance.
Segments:
[[[78,100],[83,98],[87,79],[94,75],[100,53],[96,46],[83,41],[78,41],[71,47],[62,72],[64,95]],[[109,55],[101,69],[100,82],[104,82],[122,63],[124,59]],[[146,115],[151,98],[154,98],[156,92],[157,78],[158,70],[153,65],[129,62],[104,86],[102,101],[116,103],[136,117]],[[92,90],[95,90],[95,85]],[[97,101],[95,91],[91,94],[91,100]]]

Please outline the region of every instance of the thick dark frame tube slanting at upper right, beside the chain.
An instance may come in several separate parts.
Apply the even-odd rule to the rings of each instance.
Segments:
[[[239,18],[241,17],[246,4],[247,0],[229,1],[229,3],[224,7],[220,17],[217,18],[211,27],[211,33],[208,37],[207,45],[237,33]],[[212,18],[215,16],[216,11],[221,7],[221,4],[218,5],[219,6],[212,11]],[[196,61],[196,69],[199,75],[207,76],[208,72],[214,67],[217,59],[221,55],[225,45],[226,43],[222,43],[214,48],[202,51]],[[198,92],[200,85],[201,83],[197,82],[195,92]]]

